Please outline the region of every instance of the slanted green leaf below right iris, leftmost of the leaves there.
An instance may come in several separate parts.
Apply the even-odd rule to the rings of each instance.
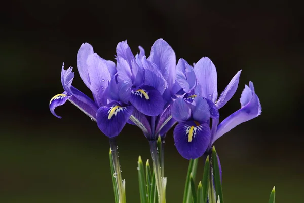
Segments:
[[[192,173],[193,179],[195,179],[196,171],[198,168],[199,159],[191,159],[188,166],[188,172],[186,177],[186,184],[183,196],[183,203],[191,203],[192,202],[192,191],[191,191],[191,182],[190,175]]]

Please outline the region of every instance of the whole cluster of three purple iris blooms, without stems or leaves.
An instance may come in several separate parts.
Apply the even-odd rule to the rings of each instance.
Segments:
[[[239,71],[218,98],[217,75],[212,61],[203,57],[194,66],[176,57],[171,46],[158,39],[150,55],[139,46],[133,55],[127,41],[116,49],[116,63],[99,57],[84,43],[77,54],[78,72],[93,99],[72,86],[72,67],[61,70],[64,92],[50,101],[51,112],[69,100],[109,138],[129,123],[137,125],[149,141],[166,133],[177,122],[174,140],[178,152],[195,159],[211,149],[224,133],[261,113],[253,83],[241,95],[241,109],[219,123],[218,109],[229,101],[239,83]],[[210,127],[211,125],[211,127]]]

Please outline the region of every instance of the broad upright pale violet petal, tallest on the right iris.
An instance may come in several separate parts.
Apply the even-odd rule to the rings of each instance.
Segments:
[[[196,94],[208,98],[215,103],[217,99],[217,74],[212,61],[208,57],[201,58],[194,66],[199,90]]]

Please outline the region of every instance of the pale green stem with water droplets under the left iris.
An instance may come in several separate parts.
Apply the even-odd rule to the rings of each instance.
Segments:
[[[111,148],[111,152],[112,152],[113,167],[114,167],[114,174],[112,174],[112,176],[114,176],[116,178],[119,203],[125,203],[126,198],[124,195],[125,192],[124,192],[122,174],[121,174],[121,169],[120,169],[120,164],[119,164],[119,159],[118,159],[116,141],[115,141],[115,138],[110,138],[109,140],[110,140],[110,148]]]

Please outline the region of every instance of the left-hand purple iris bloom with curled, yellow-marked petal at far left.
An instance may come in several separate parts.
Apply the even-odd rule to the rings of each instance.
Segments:
[[[117,136],[128,121],[134,107],[123,103],[122,92],[119,92],[114,100],[112,99],[111,92],[114,88],[112,84],[116,80],[115,63],[100,58],[94,53],[90,44],[84,43],[77,54],[77,67],[80,77],[91,90],[94,101],[71,85],[74,78],[72,67],[64,70],[62,66],[61,83],[64,92],[51,99],[52,114],[61,118],[55,113],[55,108],[69,100],[91,120],[95,120],[106,136]]]

